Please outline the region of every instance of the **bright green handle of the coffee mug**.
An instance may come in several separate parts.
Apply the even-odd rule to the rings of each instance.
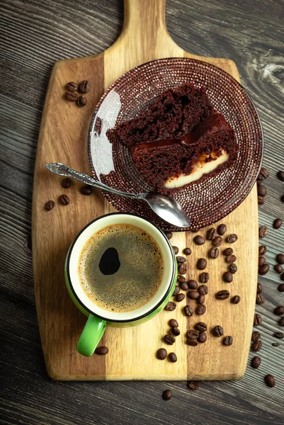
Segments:
[[[82,356],[92,356],[93,351],[96,350],[98,343],[101,341],[105,329],[106,320],[90,314],[77,344],[78,353]]]

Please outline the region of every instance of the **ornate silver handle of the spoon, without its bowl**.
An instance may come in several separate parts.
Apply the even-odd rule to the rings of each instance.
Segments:
[[[72,179],[81,181],[81,183],[100,188],[103,191],[114,193],[115,195],[125,196],[125,198],[143,199],[145,197],[144,193],[128,193],[118,191],[115,188],[110,188],[109,186],[106,186],[106,184],[101,183],[101,181],[97,181],[93,179],[93,177],[88,176],[88,174],[79,173],[79,171],[75,171],[69,166],[62,164],[61,162],[45,164],[45,168],[52,171],[52,173],[58,174],[59,176],[72,177]]]

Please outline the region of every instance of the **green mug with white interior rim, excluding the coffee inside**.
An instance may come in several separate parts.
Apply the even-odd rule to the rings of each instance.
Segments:
[[[130,312],[108,311],[99,307],[86,295],[79,278],[79,257],[84,244],[99,230],[120,224],[134,225],[150,234],[159,245],[164,259],[164,276],[157,293],[142,307]],[[79,310],[88,317],[77,344],[77,351],[83,356],[92,356],[107,326],[130,327],[142,324],[164,309],[176,286],[177,265],[169,239],[159,227],[137,215],[114,212],[96,218],[81,229],[67,253],[64,273],[70,297]]]

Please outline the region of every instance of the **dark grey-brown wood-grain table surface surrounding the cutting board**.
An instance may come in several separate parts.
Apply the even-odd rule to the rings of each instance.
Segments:
[[[157,0],[158,1],[158,0]],[[1,0],[0,155],[0,423],[91,424],[283,424],[284,331],[273,314],[284,305],[278,292],[275,256],[284,252],[284,3],[280,0],[168,0],[166,22],[174,40],[197,55],[228,57],[261,115],[266,147],[266,202],[259,208],[268,226],[269,273],[260,277],[266,302],[261,366],[248,364],[238,382],[55,382],[42,357],[33,292],[30,246],[33,168],[45,91],[52,64],[65,57],[93,55],[118,37],[122,0]],[[249,232],[249,229],[247,229]],[[244,282],[249,285],[250,282]],[[253,353],[250,354],[250,359]],[[119,361],[119,359],[118,359]],[[263,377],[271,373],[276,387]],[[173,391],[170,402],[161,399]]]

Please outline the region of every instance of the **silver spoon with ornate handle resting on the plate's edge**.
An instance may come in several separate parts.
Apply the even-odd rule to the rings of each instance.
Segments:
[[[115,193],[115,195],[125,196],[125,198],[146,200],[150,208],[152,208],[159,217],[176,227],[189,227],[191,225],[191,222],[188,221],[186,212],[183,211],[181,205],[179,205],[179,203],[170,196],[161,195],[157,192],[127,193],[118,191],[117,189],[106,186],[106,184],[101,183],[101,181],[93,179],[87,174],[79,173],[69,166],[61,164],[60,162],[45,164],[45,167],[47,170],[52,171],[52,173],[59,174],[59,176],[72,177],[73,179],[81,181],[81,183],[88,184],[89,186],[95,186],[96,188],[100,188],[106,192]]]

